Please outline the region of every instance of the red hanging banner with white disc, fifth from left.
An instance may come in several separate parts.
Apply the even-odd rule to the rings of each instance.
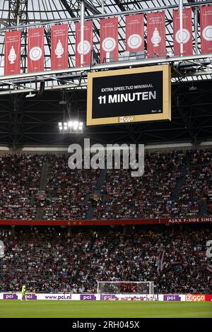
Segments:
[[[100,20],[100,62],[118,60],[118,18]]]

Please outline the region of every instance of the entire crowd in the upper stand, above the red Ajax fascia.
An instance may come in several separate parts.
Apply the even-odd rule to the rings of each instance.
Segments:
[[[211,150],[168,150],[145,153],[145,172],[107,170],[100,188],[102,202],[93,219],[170,218],[211,215],[201,209],[204,190],[212,188]],[[35,219],[35,194],[42,165],[48,164],[45,220],[86,219],[88,197],[97,189],[100,170],[70,170],[68,155],[7,154],[0,156],[0,218]],[[181,182],[179,191],[177,184]]]

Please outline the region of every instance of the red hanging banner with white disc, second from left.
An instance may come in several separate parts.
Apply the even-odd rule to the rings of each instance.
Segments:
[[[28,73],[44,70],[44,28],[28,30]]]

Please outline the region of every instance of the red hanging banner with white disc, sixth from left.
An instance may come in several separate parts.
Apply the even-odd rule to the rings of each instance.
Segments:
[[[126,16],[126,51],[144,50],[143,14]]]

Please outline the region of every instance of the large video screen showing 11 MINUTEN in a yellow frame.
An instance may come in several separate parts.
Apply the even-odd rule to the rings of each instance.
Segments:
[[[88,126],[165,119],[171,119],[170,66],[88,73]]]

